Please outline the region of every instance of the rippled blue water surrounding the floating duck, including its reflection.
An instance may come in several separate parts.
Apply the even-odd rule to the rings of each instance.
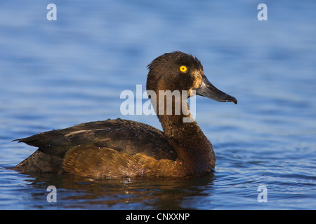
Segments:
[[[316,3],[265,1],[0,2],[0,209],[315,209]],[[197,97],[213,174],[187,181],[29,176],[10,169],[36,148],[12,142],[122,116],[121,91],[145,90],[164,52],[196,55],[224,104]],[[57,202],[48,203],[48,186]],[[268,202],[258,202],[259,186]]]

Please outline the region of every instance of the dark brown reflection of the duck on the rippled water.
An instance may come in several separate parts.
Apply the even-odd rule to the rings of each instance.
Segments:
[[[25,205],[34,209],[194,209],[191,197],[205,196],[211,189],[213,174],[194,180],[142,179],[86,179],[70,174],[43,174],[28,176],[27,186],[32,189],[29,200],[39,205]],[[46,202],[48,186],[55,186],[57,203]],[[197,202],[195,202],[195,206]]]

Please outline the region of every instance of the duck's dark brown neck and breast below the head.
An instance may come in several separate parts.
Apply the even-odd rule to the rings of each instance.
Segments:
[[[192,118],[187,102],[178,115],[157,113],[157,116],[169,144],[187,167],[187,173],[190,175],[210,172],[215,163],[213,147]]]

